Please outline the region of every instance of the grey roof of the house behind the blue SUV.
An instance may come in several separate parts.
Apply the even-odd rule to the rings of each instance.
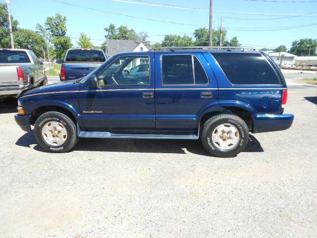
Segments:
[[[151,48],[150,41],[131,41],[131,40],[107,40],[107,56],[113,56],[121,52],[130,52],[143,43],[148,49]]]

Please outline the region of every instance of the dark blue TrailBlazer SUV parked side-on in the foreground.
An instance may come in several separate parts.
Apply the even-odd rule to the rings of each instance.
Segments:
[[[82,79],[23,91],[15,120],[28,132],[34,125],[39,145],[55,153],[80,137],[200,138],[212,155],[232,157],[250,131],[292,125],[286,99],[278,66],[254,48],[158,48],[120,53]]]

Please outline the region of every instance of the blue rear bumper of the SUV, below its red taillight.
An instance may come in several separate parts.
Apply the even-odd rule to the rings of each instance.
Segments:
[[[286,130],[294,120],[292,114],[256,115],[253,120],[253,133]]]

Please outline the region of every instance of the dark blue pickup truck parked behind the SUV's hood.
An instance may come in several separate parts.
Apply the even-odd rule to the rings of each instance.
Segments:
[[[82,78],[106,61],[102,50],[92,49],[68,49],[61,63],[60,81]]]

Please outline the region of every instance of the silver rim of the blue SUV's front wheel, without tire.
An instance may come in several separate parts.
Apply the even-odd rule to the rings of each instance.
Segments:
[[[49,145],[59,146],[65,143],[67,131],[61,123],[50,121],[42,127],[42,136]]]

